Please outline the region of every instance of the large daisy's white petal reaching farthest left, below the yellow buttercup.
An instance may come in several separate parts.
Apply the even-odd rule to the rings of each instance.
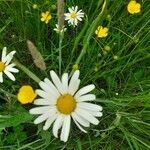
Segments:
[[[29,110],[30,114],[44,114],[47,111],[53,109],[51,106],[42,106],[42,107],[35,107]]]

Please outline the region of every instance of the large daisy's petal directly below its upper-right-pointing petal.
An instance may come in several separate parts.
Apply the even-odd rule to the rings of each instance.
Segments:
[[[87,94],[80,96],[78,99],[76,99],[77,102],[84,102],[84,101],[93,101],[96,99],[96,96],[94,94]]]

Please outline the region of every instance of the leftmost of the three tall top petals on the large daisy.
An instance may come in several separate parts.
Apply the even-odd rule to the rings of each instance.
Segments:
[[[50,75],[51,75],[52,81],[55,84],[55,86],[57,87],[58,91],[61,94],[63,94],[64,89],[63,89],[62,83],[61,83],[59,77],[57,76],[57,74],[52,70],[52,71],[50,71]]]

